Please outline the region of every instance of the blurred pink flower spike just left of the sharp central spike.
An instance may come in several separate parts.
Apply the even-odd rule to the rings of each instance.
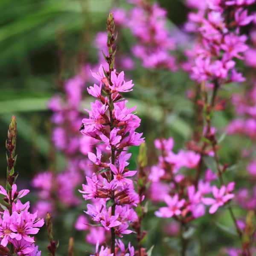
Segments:
[[[52,122],[56,125],[53,128],[52,141],[57,150],[64,152],[67,166],[64,172],[46,171],[39,173],[32,180],[32,186],[39,190],[41,200],[36,203],[35,208],[40,216],[55,210],[55,196],[67,207],[80,202],[75,190],[84,177],[82,166],[86,166],[86,163],[81,161],[81,152],[87,153],[87,149],[90,150],[87,145],[90,142],[82,141],[78,132],[81,118],[79,108],[85,79],[85,74],[80,74],[68,80],[64,84],[65,98],[61,99],[56,95],[49,102],[49,108],[54,113]]]

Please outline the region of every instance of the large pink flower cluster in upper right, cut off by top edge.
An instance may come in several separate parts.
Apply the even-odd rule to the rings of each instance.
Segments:
[[[187,1],[197,12],[189,13],[185,28],[199,34],[198,42],[186,52],[190,61],[184,68],[191,73],[192,79],[209,85],[245,81],[236,70],[234,59],[243,59],[248,49],[247,36],[240,32],[242,26],[253,20],[245,7],[254,2]]]

